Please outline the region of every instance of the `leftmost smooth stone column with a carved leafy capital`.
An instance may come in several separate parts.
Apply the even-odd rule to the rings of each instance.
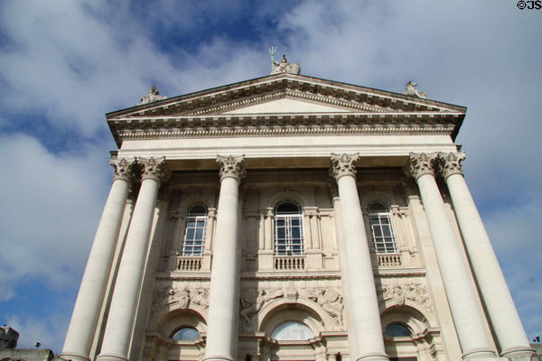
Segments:
[[[134,160],[111,158],[115,168],[113,184],[99,221],[89,261],[79,287],[70,328],[62,349],[62,357],[89,360],[90,347],[98,324],[99,312],[106,293],[107,280],[117,247],[118,232],[126,208]]]

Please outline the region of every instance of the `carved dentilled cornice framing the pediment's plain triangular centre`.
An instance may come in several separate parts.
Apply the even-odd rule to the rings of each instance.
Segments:
[[[290,98],[341,110],[242,114]],[[240,110],[239,110],[240,109]],[[225,114],[235,111],[237,114]],[[399,132],[457,134],[466,108],[331,80],[276,74],[107,114],[120,145],[133,137]]]

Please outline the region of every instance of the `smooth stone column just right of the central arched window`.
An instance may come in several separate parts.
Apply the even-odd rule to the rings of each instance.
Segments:
[[[344,296],[351,305],[349,315],[355,335],[352,360],[388,360],[384,348],[380,311],[378,309],[372,264],[370,262],[367,230],[361,214],[360,197],[356,186],[358,154],[332,154],[332,175],[337,180],[341,204],[342,235],[346,259],[348,288]]]

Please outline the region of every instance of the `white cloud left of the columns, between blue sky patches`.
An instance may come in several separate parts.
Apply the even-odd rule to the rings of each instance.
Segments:
[[[76,288],[107,195],[107,158],[98,147],[52,154],[33,137],[0,137],[8,162],[0,179],[0,301],[33,277]]]

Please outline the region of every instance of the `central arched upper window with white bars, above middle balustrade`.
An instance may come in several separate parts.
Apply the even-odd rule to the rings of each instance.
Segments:
[[[304,255],[302,211],[290,200],[275,208],[275,255]]]

